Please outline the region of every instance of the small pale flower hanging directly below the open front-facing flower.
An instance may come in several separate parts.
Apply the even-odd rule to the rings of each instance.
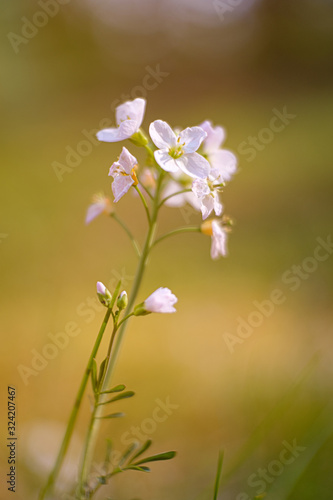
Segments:
[[[200,201],[200,208],[203,220],[214,210],[217,216],[220,216],[223,211],[223,205],[219,199],[219,185],[214,184],[212,180],[214,176],[207,179],[194,179],[192,183],[192,191]]]

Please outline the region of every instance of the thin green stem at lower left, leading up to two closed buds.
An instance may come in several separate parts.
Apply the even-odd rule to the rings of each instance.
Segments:
[[[44,488],[41,490],[41,492],[39,494],[39,497],[38,497],[39,500],[43,500],[45,498],[45,495],[47,494],[47,492],[52,489],[52,487],[57,479],[57,476],[60,472],[62,462],[63,462],[65,454],[67,452],[70,439],[72,437],[76,418],[77,418],[77,415],[78,415],[78,412],[79,412],[79,409],[81,406],[82,397],[83,397],[85,388],[86,388],[88,380],[89,380],[93,360],[96,357],[98,348],[99,348],[100,343],[101,343],[102,338],[103,338],[105,328],[106,328],[108,321],[110,319],[110,315],[111,315],[111,309],[108,309],[106,314],[105,314],[101,328],[99,330],[99,333],[98,333],[96,342],[94,344],[93,350],[91,351],[90,358],[89,358],[87,367],[85,369],[85,372],[84,372],[84,375],[83,375],[83,378],[82,378],[82,381],[80,384],[80,388],[78,390],[78,393],[77,393],[77,396],[75,399],[75,403],[74,403],[72,412],[71,412],[70,417],[69,417],[66,433],[65,433],[65,436],[63,438],[63,441],[62,441],[62,444],[61,444],[61,447],[60,447],[60,450],[59,450],[59,453],[57,456],[57,460],[56,460],[55,465],[54,465],[54,467],[53,467],[53,469],[48,477],[46,485],[44,486]]]

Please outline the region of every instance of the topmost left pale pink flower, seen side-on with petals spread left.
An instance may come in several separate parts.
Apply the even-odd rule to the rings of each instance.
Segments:
[[[103,142],[119,142],[129,139],[141,127],[146,109],[146,100],[140,97],[127,101],[116,108],[118,127],[105,128],[97,133],[97,139]]]

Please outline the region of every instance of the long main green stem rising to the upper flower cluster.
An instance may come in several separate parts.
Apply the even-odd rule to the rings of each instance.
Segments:
[[[127,308],[125,310],[125,317],[129,316],[132,312],[132,309],[133,309],[134,303],[136,301],[136,297],[138,295],[138,291],[139,291],[139,288],[140,288],[140,285],[141,285],[141,282],[142,282],[142,279],[144,276],[149,251],[153,245],[154,234],[155,234],[155,230],[156,230],[156,226],[157,226],[157,216],[158,216],[158,211],[159,211],[159,196],[160,196],[160,191],[161,191],[161,187],[162,187],[163,177],[164,177],[164,172],[161,169],[159,169],[159,177],[158,177],[157,186],[156,186],[156,193],[155,193],[155,199],[154,199],[154,204],[153,204],[153,209],[152,209],[152,215],[150,218],[149,229],[148,229],[146,241],[145,241],[145,244],[144,244],[144,247],[142,250],[142,254],[140,257],[140,261],[139,261],[139,265],[137,268],[137,272],[136,272],[136,276],[134,279],[131,294],[129,297],[128,305],[127,305]],[[127,324],[128,324],[127,321],[123,322],[121,327],[119,328],[118,335],[117,335],[113,350],[111,352],[110,360],[109,360],[109,363],[108,363],[108,366],[106,369],[104,382],[102,384],[102,387],[100,388],[101,393],[107,391],[109,386],[110,386],[110,381],[111,381],[111,378],[113,375],[114,367],[115,367],[115,364],[116,364],[116,361],[118,358],[118,354],[120,351],[120,347],[121,347],[121,344],[123,341],[123,337],[124,337],[124,334],[126,331]],[[86,456],[84,459],[85,464],[86,464],[85,465],[85,475],[82,477],[82,484],[87,484],[87,475],[89,473],[90,466],[92,463],[95,445],[96,445],[96,441],[97,441],[97,437],[98,437],[99,426],[101,423],[101,418],[99,418],[99,417],[102,416],[103,410],[104,410],[103,405],[99,405],[97,407],[96,411],[94,412],[94,420],[91,421],[92,425],[91,425],[91,429],[89,429],[89,443],[88,443],[88,446],[87,446],[87,449],[85,452]]]

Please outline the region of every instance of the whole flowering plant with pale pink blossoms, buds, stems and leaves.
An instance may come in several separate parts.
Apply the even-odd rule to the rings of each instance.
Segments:
[[[149,439],[138,450],[134,443],[134,446],[125,450],[120,459],[113,463],[108,442],[102,475],[91,474],[99,422],[101,419],[124,416],[122,412],[105,414],[104,409],[109,406],[112,408],[113,403],[131,398],[135,394],[133,391],[125,391],[124,384],[114,387],[111,385],[128,320],[151,313],[176,312],[175,304],[178,298],[166,287],[159,287],[143,302],[136,302],[150,252],[162,240],[192,231],[211,237],[212,259],[227,255],[227,232],[231,221],[223,214],[220,195],[222,188],[237,170],[237,160],[233,153],[222,147],[225,140],[224,129],[213,126],[210,121],[204,121],[200,125],[180,130],[170,127],[163,120],[155,120],[149,126],[148,138],[141,128],[145,109],[144,99],[125,102],[116,109],[117,126],[101,130],[97,134],[97,138],[104,142],[129,140],[134,146],[144,148],[147,153],[146,163],[140,165],[132,152],[123,147],[117,161],[113,162],[109,169],[113,202],[102,193],[96,194],[86,214],[87,224],[101,214],[112,217],[129,237],[139,262],[129,295],[126,290],[120,291],[121,279],[112,292],[101,281],[97,282],[96,292],[99,301],[106,308],[105,316],[80,383],[62,446],[47,483],[40,493],[40,500],[46,499],[59,475],[89,381],[93,391],[92,410],[77,474],[77,500],[92,499],[99,488],[106,485],[115,474],[127,470],[149,472],[150,469],[145,464],[150,466],[150,462],[170,460],[176,454],[169,451],[141,458],[141,454],[146,452],[152,443]],[[134,191],[131,188],[134,188]],[[115,210],[115,203],[130,190],[142,203],[147,216],[148,227],[142,246]],[[182,207],[185,204],[191,205],[194,212],[201,214],[203,221],[196,226],[177,227],[157,235],[158,215],[162,207]],[[212,214],[213,217],[209,218]],[[98,367],[96,358],[109,321],[113,323],[113,327],[107,355]]]

